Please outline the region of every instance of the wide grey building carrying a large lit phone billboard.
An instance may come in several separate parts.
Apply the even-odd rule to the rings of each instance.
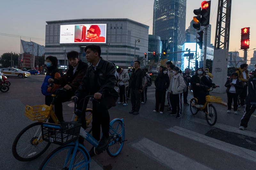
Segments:
[[[66,54],[71,50],[79,52],[80,59],[86,62],[84,48],[89,44],[100,45],[101,57],[121,68],[128,68],[148,51],[149,26],[127,18],[73,19],[46,23],[45,56],[56,56],[63,67],[65,63],[68,65]],[[104,36],[104,42],[90,42],[85,38],[91,25],[105,26],[100,34]],[[76,32],[77,27],[81,27],[81,34]],[[77,33],[84,40],[76,38]]]

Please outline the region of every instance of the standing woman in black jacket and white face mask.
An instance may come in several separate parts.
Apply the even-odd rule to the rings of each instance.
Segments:
[[[159,74],[155,80],[156,106],[155,106],[155,110],[153,110],[153,112],[159,111],[159,103],[161,101],[160,114],[164,113],[165,93],[170,84],[170,80],[169,80],[169,76],[168,76],[167,72],[168,72],[168,69],[166,67],[164,67],[162,69],[162,71],[159,72]]]

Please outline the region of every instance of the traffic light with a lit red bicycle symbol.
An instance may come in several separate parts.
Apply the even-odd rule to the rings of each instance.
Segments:
[[[211,1],[203,1],[201,3],[201,26],[207,26],[210,22],[210,10],[211,10]]]

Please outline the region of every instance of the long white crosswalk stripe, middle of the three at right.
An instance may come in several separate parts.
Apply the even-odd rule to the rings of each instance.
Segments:
[[[236,145],[228,144],[226,142],[214,139],[212,137],[207,137],[205,135],[196,133],[196,132],[188,130],[188,129],[180,128],[178,126],[174,126],[167,130],[169,130],[173,133],[179,134],[181,136],[196,140],[197,142],[207,144],[207,145],[215,147],[217,149],[221,149],[223,151],[226,151],[226,152],[232,153],[234,155],[240,156],[242,158],[249,159],[253,162],[256,162],[256,152],[255,151],[245,149],[245,148],[242,148],[242,147],[239,147]]]

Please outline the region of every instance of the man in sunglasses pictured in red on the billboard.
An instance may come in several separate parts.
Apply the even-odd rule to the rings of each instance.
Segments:
[[[87,42],[105,42],[105,37],[100,37],[100,27],[97,25],[91,25],[87,30],[86,41]]]

